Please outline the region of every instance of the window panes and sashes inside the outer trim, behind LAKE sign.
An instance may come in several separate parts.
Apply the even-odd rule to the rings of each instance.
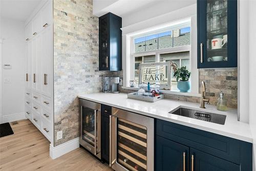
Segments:
[[[190,26],[173,27],[156,30],[153,33],[146,33],[131,37],[133,46],[131,48],[131,65],[134,66],[131,78],[139,82],[140,63],[168,62],[172,61],[180,68],[186,66],[190,71]],[[133,63],[133,64],[132,64]],[[167,67],[164,68],[167,77]],[[176,78],[171,72],[171,90],[177,90]],[[156,82],[157,83],[157,82]]]

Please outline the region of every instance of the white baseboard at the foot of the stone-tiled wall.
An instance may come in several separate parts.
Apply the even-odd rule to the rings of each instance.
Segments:
[[[57,146],[50,144],[50,157],[52,159],[56,159],[62,155],[65,155],[66,153],[73,151],[76,148],[79,148],[79,137]]]

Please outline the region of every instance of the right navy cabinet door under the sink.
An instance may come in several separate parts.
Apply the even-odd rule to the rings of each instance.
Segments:
[[[240,166],[215,156],[190,148],[190,170],[239,171]]]

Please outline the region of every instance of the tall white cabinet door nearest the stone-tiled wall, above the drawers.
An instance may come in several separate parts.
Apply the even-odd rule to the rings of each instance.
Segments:
[[[53,34],[52,25],[42,31],[42,94],[51,97],[53,87]]]

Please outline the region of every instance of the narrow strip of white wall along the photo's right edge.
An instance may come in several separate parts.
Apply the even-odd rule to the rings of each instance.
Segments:
[[[249,123],[251,127],[251,133],[253,136],[253,170],[256,170],[256,112],[255,112],[255,101],[256,101],[256,55],[255,55],[255,47],[256,47],[256,1],[249,1]]]

